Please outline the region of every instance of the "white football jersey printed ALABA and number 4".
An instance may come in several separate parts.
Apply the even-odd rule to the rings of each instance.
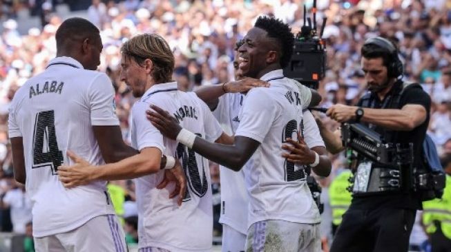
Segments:
[[[106,182],[66,189],[56,174],[59,165],[73,165],[67,150],[93,165],[104,164],[93,126],[119,125],[106,74],[57,57],[17,91],[9,116],[10,138],[23,138],[35,237],[64,233],[115,213]]]

